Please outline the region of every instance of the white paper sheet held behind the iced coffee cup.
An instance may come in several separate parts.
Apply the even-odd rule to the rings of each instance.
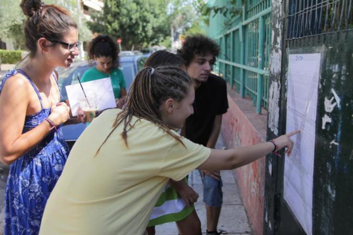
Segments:
[[[98,109],[115,108],[115,98],[110,78],[102,78],[90,82],[82,83],[83,89],[87,93],[94,92],[98,101]],[[84,94],[80,84],[68,85],[65,87],[68,101],[70,102],[71,112],[73,116],[77,115],[79,108],[78,100],[84,98]]]

